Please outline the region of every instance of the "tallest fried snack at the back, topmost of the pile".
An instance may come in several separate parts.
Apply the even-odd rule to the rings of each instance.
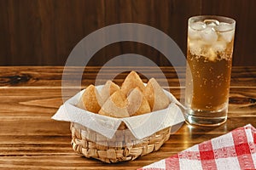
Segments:
[[[135,71],[131,71],[130,74],[125,78],[121,91],[123,94],[125,94],[125,96],[128,96],[133,88],[139,88],[142,92],[145,89],[142,79]]]

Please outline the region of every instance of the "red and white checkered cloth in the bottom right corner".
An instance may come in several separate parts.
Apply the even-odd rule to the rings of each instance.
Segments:
[[[140,169],[256,169],[256,129],[238,127]]]

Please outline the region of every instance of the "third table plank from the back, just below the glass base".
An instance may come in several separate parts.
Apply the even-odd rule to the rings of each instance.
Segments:
[[[215,127],[215,128],[193,128],[193,134],[202,134],[202,133],[214,133],[214,134],[223,134],[227,133],[230,130],[244,126],[245,123],[251,123],[253,126],[256,126],[255,119],[251,116],[244,117],[229,117],[228,122],[223,127]],[[19,126],[18,126],[19,125]],[[69,122],[55,122],[54,120],[50,120],[48,118],[42,117],[20,117],[18,116],[16,119],[14,117],[6,117],[3,118],[3,121],[0,126],[1,132],[0,135],[69,135]],[[178,131],[179,133],[184,133],[187,131],[185,127],[182,128],[182,131]],[[191,130],[191,129],[190,129]],[[213,131],[214,130],[214,131]],[[209,132],[208,132],[209,131]]]

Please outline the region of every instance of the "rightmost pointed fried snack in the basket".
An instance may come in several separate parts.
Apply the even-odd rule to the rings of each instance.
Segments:
[[[154,78],[148,81],[148,84],[143,92],[143,95],[148,99],[151,111],[159,111],[166,109],[170,104],[169,98],[166,96],[159,83]]]

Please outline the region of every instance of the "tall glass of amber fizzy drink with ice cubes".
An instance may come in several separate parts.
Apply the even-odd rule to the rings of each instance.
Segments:
[[[236,21],[219,16],[189,19],[186,121],[216,126],[227,119]]]

